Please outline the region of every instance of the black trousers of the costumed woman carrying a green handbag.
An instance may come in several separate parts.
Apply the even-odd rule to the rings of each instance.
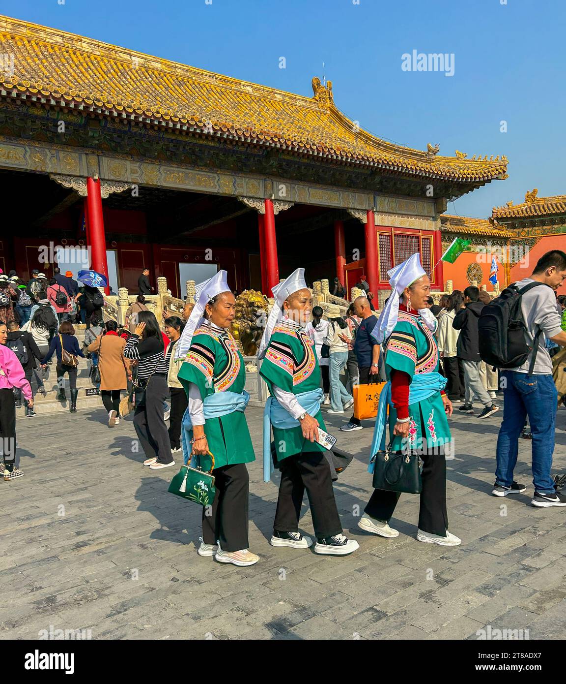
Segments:
[[[246,464],[222,466],[214,469],[212,474],[216,478],[216,496],[212,506],[203,507],[203,542],[220,542],[223,551],[248,549],[250,478]]]

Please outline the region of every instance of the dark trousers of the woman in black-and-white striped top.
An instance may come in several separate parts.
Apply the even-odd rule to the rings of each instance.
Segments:
[[[145,389],[145,402],[136,406],[134,427],[147,458],[157,458],[159,463],[171,463],[171,445],[167,425],[163,420],[163,402],[169,394],[167,378],[152,375]]]

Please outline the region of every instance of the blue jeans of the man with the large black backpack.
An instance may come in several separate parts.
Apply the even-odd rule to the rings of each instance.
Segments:
[[[535,491],[554,494],[554,482],[550,477],[558,402],[554,380],[550,375],[528,376],[526,373],[502,371],[500,385],[503,386],[504,404],[503,423],[497,438],[496,484],[509,487],[513,482],[519,436],[528,416],[533,433]]]

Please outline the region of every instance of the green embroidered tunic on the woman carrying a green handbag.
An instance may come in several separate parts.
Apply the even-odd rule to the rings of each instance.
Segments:
[[[244,359],[229,332],[203,324],[195,330],[178,379],[188,396],[193,382],[204,400],[216,392],[241,393],[246,382]],[[204,425],[208,448],[214,455],[214,467],[249,463],[255,460],[248,423],[243,411],[220,418],[208,418]],[[193,431],[190,431],[193,437]]]

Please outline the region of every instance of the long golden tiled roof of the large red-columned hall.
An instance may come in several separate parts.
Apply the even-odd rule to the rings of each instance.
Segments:
[[[505,157],[442,157],[438,147],[423,152],[360,130],[335,107],[330,81],[313,79],[313,97],[304,97],[5,16],[0,53],[14,55],[13,73],[0,62],[4,96],[401,174],[468,183],[507,177]]]

